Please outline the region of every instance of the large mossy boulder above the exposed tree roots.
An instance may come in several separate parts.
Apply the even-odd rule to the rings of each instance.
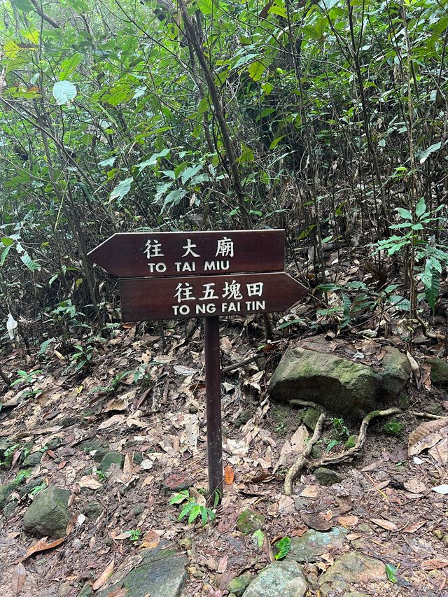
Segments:
[[[269,393],[277,402],[312,400],[330,412],[360,419],[397,402],[410,372],[406,355],[391,346],[386,347],[386,356],[376,370],[334,354],[297,347],[281,359]]]

